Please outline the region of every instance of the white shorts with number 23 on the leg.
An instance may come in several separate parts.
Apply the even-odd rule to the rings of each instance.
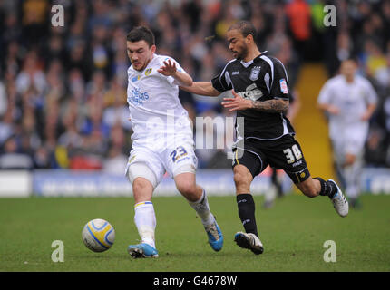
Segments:
[[[131,182],[138,177],[148,179],[153,188],[156,188],[165,172],[168,172],[171,178],[184,172],[195,174],[198,159],[194,152],[193,140],[183,139],[175,146],[174,149],[169,146],[158,151],[146,146],[133,148],[126,166],[126,176]]]

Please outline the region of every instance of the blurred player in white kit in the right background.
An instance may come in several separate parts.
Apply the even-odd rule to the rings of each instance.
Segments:
[[[371,83],[355,74],[355,61],[344,61],[340,71],[341,74],[325,83],[317,102],[327,112],[336,169],[340,179],[344,179],[346,196],[354,207],[359,195],[369,119],[375,111],[377,96]]]

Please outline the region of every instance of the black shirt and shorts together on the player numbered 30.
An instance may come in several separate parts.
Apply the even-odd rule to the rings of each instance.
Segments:
[[[249,63],[230,61],[211,82],[219,92],[233,89],[242,98],[256,102],[290,99],[286,69],[267,52]],[[237,117],[243,117],[244,130],[242,136],[236,120],[233,167],[243,164],[256,177],[269,164],[283,169],[295,183],[310,176],[300,145],[294,139],[294,128],[284,112],[246,109],[237,111]]]

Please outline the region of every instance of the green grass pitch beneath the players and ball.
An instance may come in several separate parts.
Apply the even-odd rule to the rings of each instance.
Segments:
[[[363,208],[347,218],[327,198],[290,195],[266,210],[255,197],[265,247],[259,256],[233,242],[242,230],[235,198],[209,201],[225,237],[220,252],[184,198],[153,198],[160,257],[134,260],[126,252],[139,238],[132,198],[0,199],[0,271],[390,271],[390,196],[363,196]],[[115,228],[106,252],[83,245],[83,226],[93,218]],[[63,241],[63,263],[52,261],[54,240]],[[336,263],[324,261],[327,240],[336,243]]]

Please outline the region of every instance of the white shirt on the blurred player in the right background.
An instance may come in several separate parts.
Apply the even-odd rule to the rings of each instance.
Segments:
[[[368,121],[361,121],[368,104],[377,102],[376,92],[368,80],[356,75],[354,82],[346,82],[344,75],[328,80],[319,92],[319,104],[336,106],[340,113],[329,114],[329,135],[332,139],[346,137],[347,131],[366,138]]]

